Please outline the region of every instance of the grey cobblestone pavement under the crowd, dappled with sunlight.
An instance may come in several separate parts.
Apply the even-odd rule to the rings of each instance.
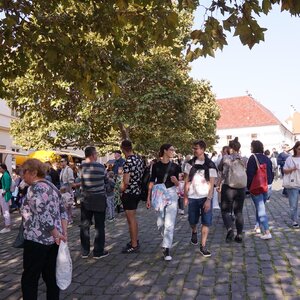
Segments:
[[[129,240],[121,213],[115,222],[106,224],[106,249],[110,255],[101,260],[82,259],[79,209],[75,209],[75,223],[69,228],[73,282],[61,292],[61,299],[300,299],[300,230],[290,227],[288,199],[281,195],[280,182],[273,188],[267,203],[273,239],[264,241],[252,233],[255,214],[248,197],[242,244],[225,243],[220,211],[214,210],[208,239],[210,258],[202,257],[198,246],[190,244],[184,215],[177,217],[173,260],[165,262],[155,212],[140,203],[140,253],[120,253]],[[22,250],[11,247],[20,217],[14,213],[13,219],[13,230],[0,236],[0,299],[21,298]],[[0,221],[3,223],[2,217]],[[45,299],[42,280],[39,299]]]

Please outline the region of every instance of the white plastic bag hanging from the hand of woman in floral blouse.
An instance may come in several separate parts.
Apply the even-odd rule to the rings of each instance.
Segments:
[[[56,258],[56,284],[65,290],[72,281],[72,259],[68,244],[60,241]]]

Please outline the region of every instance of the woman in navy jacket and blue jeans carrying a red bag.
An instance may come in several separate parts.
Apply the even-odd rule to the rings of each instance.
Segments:
[[[251,152],[257,157],[259,164],[266,164],[268,185],[270,186],[273,182],[272,162],[266,155],[264,155],[264,146],[262,142],[258,140],[252,141]],[[252,180],[257,170],[257,164],[254,155],[250,156],[247,163],[248,190],[250,190]],[[264,230],[264,234],[262,234],[260,237],[263,240],[271,239],[272,235],[270,233],[269,222],[268,222],[268,217],[267,217],[266,207],[265,207],[265,203],[268,199],[268,191],[259,195],[252,195],[252,194],[250,195],[256,209],[256,225],[254,227],[254,231],[256,233],[260,233],[260,227],[262,227]]]

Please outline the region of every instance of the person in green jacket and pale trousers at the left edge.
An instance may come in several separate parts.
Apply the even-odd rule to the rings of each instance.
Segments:
[[[9,214],[9,202],[11,199],[11,177],[8,173],[7,167],[5,164],[0,164],[0,173],[1,176],[1,187],[0,187],[0,205],[4,217],[5,227],[0,230],[0,233],[10,232],[10,214]]]

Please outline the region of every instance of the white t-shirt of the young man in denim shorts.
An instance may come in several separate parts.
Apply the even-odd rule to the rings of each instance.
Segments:
[[[195,165],[203,165],[204,160],[196,159]],[[190,171],[192,169],[192,165],[189,163],[185,164],[184,173],[189,175]],[[214,168],[209,169],[209,177],[217,178],[217,170]],[[209,192],[209,182],[205,179],[205,171],[204,170],[198,170],[190,184],[190,188],[188,191],[188,197],[193,199],[199,199],[199,198],[206,198],[208,196]]]

